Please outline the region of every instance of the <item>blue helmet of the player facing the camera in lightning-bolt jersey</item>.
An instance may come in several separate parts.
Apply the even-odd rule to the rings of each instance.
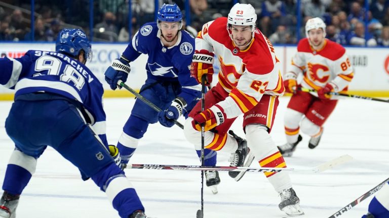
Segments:
[[[178,22],[179,28],[182,28],[182,13],[180,8],[174,4],[174,5],[162,5],[161,8],[158,10],[157,14],[157,24],[160,28],[160,23],[164,22]]]

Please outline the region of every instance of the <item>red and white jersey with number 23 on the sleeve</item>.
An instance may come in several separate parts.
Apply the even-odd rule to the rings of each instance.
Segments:
[[[204,24],[196,38],[196,50],[215,53],[220,62],[219,84],[229,93],[218,104],[227,118],[235,118],[258,104],[263,94],[282,95],[285,88],[271,42],[256,29],[249,47],[240,50],[226,27],[225,17]]]

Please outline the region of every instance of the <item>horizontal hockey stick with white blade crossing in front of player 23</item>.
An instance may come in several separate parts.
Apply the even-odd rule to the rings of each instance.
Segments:
[[[190,171],[246,171],[246,172],[280,172],[280,171],[298,171],[308,173],[322,173],[330,170],[335,166],[341,165],[352,160],[353,157],[345,154],[336,157],[330,161],[324,162],[314,168],[295,169],[295,168],[250,168],[250,167],[203,167],[203,166],[186,166],[186,165],[144,165],[144,164],[128,164],[127,169],[149,169],[149,170],[190,170]]]

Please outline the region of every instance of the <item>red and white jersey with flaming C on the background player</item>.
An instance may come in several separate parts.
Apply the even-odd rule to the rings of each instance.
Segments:
[[[319,90],[330,83],[334,88],[332,91],[346,91],[354,70],[345,49],[328,39],[324,43],[322,49],[314,50],[307,38],[301,39],[292,58],[291,70],[284,79],[303,74],[301,86],[304,88]]]

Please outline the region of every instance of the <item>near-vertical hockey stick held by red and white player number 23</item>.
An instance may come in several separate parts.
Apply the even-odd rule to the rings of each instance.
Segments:
[[[201,77],[201,112],[205,110],[205,80],[207,75]],[[204,167],[204,135],[205,124],[201,125],[201,167]],[[204,171],[201,171],[201,209],[197,210],[196,217],[203,218],[204,216]]]

